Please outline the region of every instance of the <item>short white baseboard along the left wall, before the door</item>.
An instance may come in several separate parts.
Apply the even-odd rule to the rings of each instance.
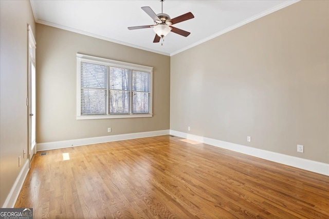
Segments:
[[[23,168],[21,169],[21,172],[17,176],[15,183],[11,187],[11,190],[6,198],[6,201],[2,208],[13,208],[15,206],[15,203],[17,201],[17,197],[19,197],[19,194],[21,192],[21,189],[23,187],[25,178],[27,176],[27,173],[29,172],[29,160],[26,160]]]

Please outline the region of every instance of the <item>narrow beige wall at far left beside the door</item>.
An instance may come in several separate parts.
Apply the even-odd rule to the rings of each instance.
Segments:
[[[27,150],[27,24],[35,34],[29,1],[0,1],[0,207],[19,175]],[[18,157],[22,158],[21,167]]]

